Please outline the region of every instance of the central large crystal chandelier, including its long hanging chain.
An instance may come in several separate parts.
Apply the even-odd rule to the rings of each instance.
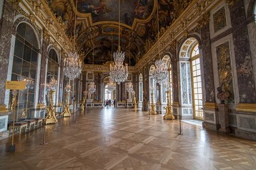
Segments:
[[[128,78],[128,65],[123,65],[124,62],[124,52],[121,51],[120,48],[120,0],[118,1],[119,5],[119,21],[118,21],[118,50],[117,52],[114,52],[114,61],[113,65],[110,65],[110,71],[109,75],[113,79],[114,82],[117,82],[117,84],[120,84],[121,82],[125,82]]]

